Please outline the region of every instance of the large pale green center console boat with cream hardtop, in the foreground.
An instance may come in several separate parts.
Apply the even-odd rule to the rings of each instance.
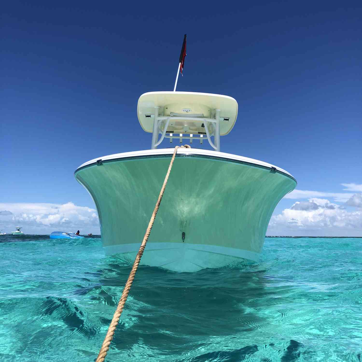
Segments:
[[[195,92],[148,92],[138,120],[152,133],[151,150],[117,153],[81,165],[75,178],[92,196],[106,255],[134,261],[174,148],[179,148],[140,264],[173,271],[257,261],[275,206],[296,186],[287,171],[220,152],[233,128],[234,98]],[[213,150],[194,148],[209,142]],[[173,143],[173,144],[172,144]]]

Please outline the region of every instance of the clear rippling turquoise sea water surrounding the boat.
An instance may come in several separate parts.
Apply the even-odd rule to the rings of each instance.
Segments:
[[[130,266],[97,237],[0,241],[1,361],[94,361]],[[361,362],[361,247],[266,238],[257,264],[140,266],[106,361]]]

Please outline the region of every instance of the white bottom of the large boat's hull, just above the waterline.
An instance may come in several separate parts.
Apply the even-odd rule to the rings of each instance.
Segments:
[[[104,247],[106,256],[123,254],[122,257],[134,262],[140,243],[110,245]],[[258,261],[260,254],[237,248],[218,245],[189,243],[150,243],[144,250],[140,265],[157,266],[172,271],[198,271],[205,268],[220,268],[249,259]]]

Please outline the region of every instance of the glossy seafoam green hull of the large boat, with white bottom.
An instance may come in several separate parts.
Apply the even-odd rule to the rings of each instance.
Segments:
[[[96,204],[106,255],[120,253],[130,262],[143,239],[172,150],[148,153],[109,156],[75,172]],[[227,154],[178,153],[141,264],[197,271],[258,260],[271,214],[296,181],[260,161],[220,155]]]

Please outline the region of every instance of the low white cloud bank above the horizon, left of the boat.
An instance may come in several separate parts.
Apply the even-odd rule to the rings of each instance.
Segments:
[[[21,226],[28,234],[46,234],[52,231],[76,231],[99,233],[96,210],[76,206],[72,202],[63,205],[52,203],[0,203],[0,229],[6,232]],[[9,210],[9,211],[8,211]]]

